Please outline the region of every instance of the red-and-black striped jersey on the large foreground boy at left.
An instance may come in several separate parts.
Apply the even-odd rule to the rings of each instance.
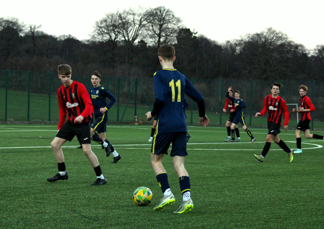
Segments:
[[[57,96],[60,108],[58,129],[63,126],[67,113],[69,113],[67,120],[70,122],[74,122],[75,118],[80,115],[84,118],[81,123],[92,119],[93,106],[83,84],[73,81],[68,87],[62,85],[57,90]]]

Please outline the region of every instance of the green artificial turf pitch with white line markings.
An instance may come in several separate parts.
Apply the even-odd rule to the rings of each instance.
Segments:
[[[225,127],[189,126],[185,167],[191,181],[194,208],[174,214],[182,202],[172,159],[164,157],[176,202],[153,211],[162,198],[150,164],[150,125],[110,125],[107,138],[121,155],[92,144],[107,184],[96,180],[76,138],[64,144],[68,180],[48,182],[57,173],[51,141],[54,125],[0,126],[0,227],[3,228],[322,228],[324,140],[302,137],[302,154],[289,163],[275,143],[263,163],[260,155],[267,130],[252,129],[255,143],[241,129],[241,142],[226,143]],[[295,149],[295,131],[279,135]],[[312,131],[311,131],[312,133]],[[314,132],[315,133],[315,132]],[[316,132],[322,134],[323,132]],[[170,146],[171,148],[172,146]],[[169,149],[170,151],[170,149]],[[133,191],[146,186],[153,201],[133,202]]]

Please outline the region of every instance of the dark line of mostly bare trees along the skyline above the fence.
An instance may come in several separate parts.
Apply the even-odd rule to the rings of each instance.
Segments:
[[[175,67],[197,79],[314,79],[324,76],[324,45],[307,50],[288,35],[267,28],[219,43],[181,25],[172,10],[129,8],[96,21],[91,38],[53,36],[41,25],[0,18],[0,69],[56,72],[61,63],[75,74],[152,77],[160,69],[157,49],[176,48]],[[213,29],[213,28],[211,28]]]

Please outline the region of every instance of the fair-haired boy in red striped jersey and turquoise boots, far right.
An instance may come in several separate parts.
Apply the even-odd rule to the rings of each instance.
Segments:
[[[300,94],[300,100],[299,100],[299,107],[298,109],[294,108],[293,112],[300,113],[300,120],[296,127],[296,144],[297,144],[297,150],[295,150],[295,153],[302,153],[302,138],[300,136],[300,133],[304,131],[306,138],[315,138],[315,139],[324,139],[324,136],[318,135],[318,134],[310,134],[309,133],[309,122],[312,120],[310,117],[310,111],[314,111],[315,107],[312,104],[312,101],[309,97],[306,96],[307,93],[307,86],[300,85],[299,86],[299,94]]]

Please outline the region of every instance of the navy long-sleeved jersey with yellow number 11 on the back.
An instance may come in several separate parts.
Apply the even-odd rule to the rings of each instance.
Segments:
[[[164,68],[157,71],[154,73],[153,81],[155,99],[163,102],[163,107],[158,111],[156,133],[187,132],[183,112],[184,94],[197,103],[203,100],[203,96],[187,77],[176,69]]]

